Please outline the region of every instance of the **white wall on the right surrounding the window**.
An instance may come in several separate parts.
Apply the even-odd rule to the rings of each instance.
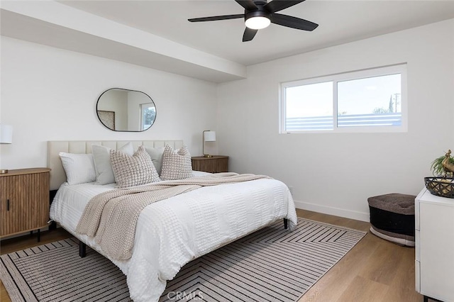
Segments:
[[[279,82],[402,62],[407,133],[278,134]],[[233,171],[292,186],[300,208],[368,220],[368,196],[418,194],[454,149],[453,111],[454,19],[248,67],[218,86],[218,147]]]

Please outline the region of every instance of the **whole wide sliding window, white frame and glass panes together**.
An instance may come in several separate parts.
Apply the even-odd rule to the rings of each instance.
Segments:
[[[406,65],[281,84],[280,133],[406,131]]]

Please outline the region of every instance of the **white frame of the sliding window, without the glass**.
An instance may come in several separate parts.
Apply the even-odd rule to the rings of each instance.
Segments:
[[[402,104],[402,123],[399,126],[355,126],[355,127],[338,127],[338,94],[337,83],[364,79],[368,77],[381,77],[392,74],[401,74],[401,104]],[[323,82],[333,82],[333,130],[287,130],[286,129],[286,104],[285,89],[294,86],[303,86],[309,84],[318,84]],[[323,77],[311,79],[301,79],[292,82],[282,82],[280,84],[279,99],[279,133],[397,133],[407,132],[408,130],[408,111],[407,111],[407,93],[406,93],[406,63],[399,65],[390,65],[386,67],[377,67],[371,69],[362,69],[354,72],[344,72],[340,74],[331,74]]]

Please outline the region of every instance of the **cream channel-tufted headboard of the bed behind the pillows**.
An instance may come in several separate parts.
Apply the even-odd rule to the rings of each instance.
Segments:
[[[48,141],[48,168],[50,168],[50,189],[57,190],[66,181],[65,170],[60,160],[59,152],[92,153],[92,145],[103,145],[118,149],[132,142],[134,150],[140,145],[145,147],[165,147],[170,145],[174,149],[183,146],[182,140],[50,140]]]

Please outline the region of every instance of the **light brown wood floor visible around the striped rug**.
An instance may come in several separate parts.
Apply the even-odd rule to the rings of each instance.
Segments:
[[[370,224],[358,220],[297,210],[298,216],[369,230]],[[71,237],[57,229],[36,237],[23,236],[1,241],[1,255]],[[1,284],[1,302],[11,301]],[[367,233],[338,264],[326,273],[298,302],[412,302],[423,301],[414,290],[414,248],[401,247]]]

